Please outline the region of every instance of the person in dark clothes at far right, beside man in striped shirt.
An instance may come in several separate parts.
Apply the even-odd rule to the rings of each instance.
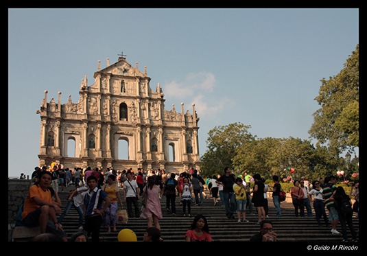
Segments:
[[[339,213],[340,226],[342,226],[343,242],[348,242],[348,235],[346,234],[346,224],[352,233],[352,242],[357,242],[357,233],[353,226],[353,209],[351,198],[345,194],[343,187],[337,187],[334,194],[335,208]]]

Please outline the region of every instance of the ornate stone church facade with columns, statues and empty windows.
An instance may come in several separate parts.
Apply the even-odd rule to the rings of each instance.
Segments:
[[[146,66],[142,73],[121,57],[113,64],[100,68],[98,61],[95,82],[88,86],[85,76],[80,86],[78,103],[61,104],[45,98],[40,114],[40,166],[61,163],[64,167],[113,167],[126,170],[165,169],[183,172],[200,169],[198,145],[198,115],[181,113],[175,106],[165,109],[163,91],[158,83],[150,87]],[[124,141],[126,147],[119,146]],[[68,148],[75,145],[73,152]],[[125,150],[125,159],[119,159]],[[72,155],[73,153],[73,155]],[[171,154],[171,156],[170,156]]]

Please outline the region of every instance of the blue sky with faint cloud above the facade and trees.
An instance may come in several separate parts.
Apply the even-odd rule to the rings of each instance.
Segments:
[[[358,9],[10,9],[9,176],[38,165],[49,91],[78,102],[97,61],[117,54],[161,84],[165,108],[196,104],[200,154],[214,126],[241,122],[258,137],[309,139],[322,78],[359,43]]]

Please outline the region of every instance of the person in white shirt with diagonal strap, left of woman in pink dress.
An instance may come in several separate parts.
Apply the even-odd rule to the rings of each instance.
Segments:
[[[128,172],[126,174],[128,178],[127,181],[123,183],[123,199],[128,203],[128,215],[130,218],[134,217],[132,213],[132,204],[134,204],[135,208],[135,217],[139,218],[139,187],[138,183],[132,179],[132,173]]]

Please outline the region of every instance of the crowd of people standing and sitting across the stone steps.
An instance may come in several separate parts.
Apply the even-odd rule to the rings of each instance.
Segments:
[[[79,213],[78,232],[73,234],[71,241],[84,242],[91,237],[92,242],[99,241],[101,226],[106,226],[108,232],[117,232],[117,211],[123,209],[123,201],[127,205],[129,218],[141,218],[147,220],[147,233],[144,241],[161,241],[161,226],[159,220],[163,218],[160,198],[166,198],[166,210],[176,215],[176,196],[179,196],[179,205],[184,216],[188,213],[191,217],[191,203],[196,206],[202,204],[204,198],[212,196],[214,205],[219,202],[224,206],[226,217],[235,219],[237,212],[238,222],[248,222],[248,214],[254,214],[257,210],[260,232],[251,237],[250,241],[276,241],[276,233],[272,231],[272,222],[268,218],[267,192],[272,192],[272,200],[276,209],[276,217],[281,218],[281,184],[279,177],[273,176],[274,185],[265,184],[265,179],[259,174],[244,177],[232,174],[226,167],[223,175],[204,178],[197,170],[189,170],[181,174],[166,174],[165,170],[152,170],[145,172],[139,168],[137,173],[133,170],[122,172],[108,168],[105,172],[98,168],[87,167],[69,170],[62,165],[54,163],[49,170],[46,167],[35,168],[32,174],[34,185],[29,188],[25,197],[21,222],[24,226],[40,226],[41,235],[35,239],[57,239],[67,241],[67,234],[62,229],[62,220],[67,216],[71,207]],[[253,186],[250,184],[253,183]],[[61,211],[61,201],[58,198],[59,186],[61,193],[64,187],[75,185],[75,190],[68,196],[68,203]],[[210,191],[210,195],[204,192],[204,186]],[[359,183],[354,185],[353,192],[356,201],[359,202]],[[123,196],[119,191],[122,189]],[[351,191],[352,193],[352,191]],[[312,217],[311,205],[316,213],[316,220],[321,226],[321,217],[324,224],[331,223],[331,233],[339,233],[336,226],[340,221],[342,235],[347,240],[346,225],[351,229],[352,240],[356,241],[356,233],[353,227],[352,215],[346,212],[349,197],[342,187],[335,186],[335,177],[330,176],[325,183],[319,180],[312,185],[305,185],[305,181],[294,181],[294,187],[290,192],[295,209],[295,216]],[[312,199],[313,197],[313,199]],[[139,201],[139,199],[141,199]],[[140,207],[139,207],[140,202]],[[349,202],[351,204],[351,202]],[[329,209],[329,221],[324,206]],[[354,207],[353,207],[354,208]],[[355,210],[355,209],[354,209]],[[358,211],[358,210],[357,210]],[[58,218],[56,216],[60,215]],[[111,230],[112,229],[112,230]],[[49,233],[49,235],[44,235]],[[211,241],[209,226],[203,214],[198,214],[187,231],[185,241]]]

